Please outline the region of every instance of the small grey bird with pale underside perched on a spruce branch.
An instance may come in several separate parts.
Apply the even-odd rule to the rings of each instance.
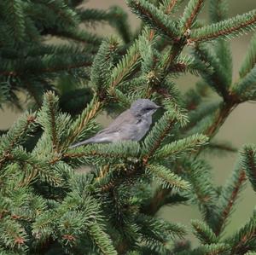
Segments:
[[[158,108],[154,101],[137,99],[131,104],[130,109],[121,113],[106,129],[90,139],[73,144],[70,148],[89,143],[140,141],[148,132],[152,124],[152,115]]]

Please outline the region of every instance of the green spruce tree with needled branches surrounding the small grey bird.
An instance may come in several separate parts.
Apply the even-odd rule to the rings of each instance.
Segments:
[[[241,189],[256,191],[256,146],[241,148],[221,188],[202,154],[232,151],[212,137],[239,104],[256,101],[256,37],[235,82],[230,51],[231,38],[255,29],[256,9],[228,17],[225,0],[210,0],[205,25],[198,19],[205,2],[189,0],[177,18],[183,0],[127,0],[143,20],[136,34],[117,7],[0,2],[1,103],[20,106],[17,90],[34,103],[0,138],[0,254],[256,252],[255,212],[223,236]],[[102,21],[119,38],[79,26]],[[45,43],[46,35],[69,41]],[[187,72],[201,80],[182,93],[175,81]],[[143,141],[70,148],[100,130],[99,113],[119,114],[137,98],[162,106]],[[202,220],[183,226],[156,217],[162,206],[184,203],[198,205]],[[196,247],[186,240],[189,228]]]

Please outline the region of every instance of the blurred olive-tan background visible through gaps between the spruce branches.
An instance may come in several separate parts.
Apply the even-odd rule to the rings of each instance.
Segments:
[[[186,3],[187,1],[184,1]],[[207,2],[207,1],[206,1]],[[230,3],[230,16],[236,14],[242,14],[250,9],[256,8],[255,0],[229,0]],[[84,1],[81,8],[98,8],[108,9],[110,6],[119,5],[129,14],[129,20],[132,31],[136,31],[139,26],[140,20],[134,14],[131,14],[130,10],[125,5],[125,0],[91,0]],[[181,8],[182,9],[182,8]],[[208,20],[208,8],[207,4],[201,13],[202,20]],[[91,30],[96,31],[99,34],[110,36],[114,33],[114,30],[108,25],[91,26]],[[249,43],[252,34],[249,33],[241,38],[236,38],[231,41],[233,52],[233,80],[236,81],[238,77],[238,70],[241,60],[247,51],[247,45]],[[181,90],[187,90],[191,85],[195,84],[197,78],[195,76],[186,75],[183,78],[177,79],[177,86]],[[20,116],[20,112],[12,107],[4,107],[0,109],[0,130],[8,129],[15,120]],[[102,125],[108,125],[111,121],[110,118],[102,116],[99,121]],[[230,114],[230,117],[226,120],[224,125],[218,132],[218,135],[214,138],[218,141],[231,142],[236,148],[241,148],[245,143],[256,144],[256,103],[243,103]],[[208,157],[209,162],[212,165],[212,173],[217,185],[223,184],[230,176],[234,165],[236,164],[237,154],[224,154]],[[247,218],[251,216],[253,208],[255,206],[255,194],[253,190],[247,185],[247,188],[242,192],[241,199],[236,203],[236,212],[232,214],[230,218],[230,225],[228,226],[225,235],[229,234],[235,229],[238,229],[241,224],[247,221]],[[176,207],[164,207],[158,213],[160,217],[164,217],[170,221],[176,221],[184,223],[189,226],[191,218],[200,218],[201,215],[197,207],[191,206],[176,206]],[[189,239],[194,243],[195,239],[189,235]]]

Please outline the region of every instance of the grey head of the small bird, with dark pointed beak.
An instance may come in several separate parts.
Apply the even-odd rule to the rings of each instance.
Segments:
[[[131,113],[136,117],[148,117],[158,109],[160,106],[156,105],[154,101],[149,99],[137,99],[131,104]]]

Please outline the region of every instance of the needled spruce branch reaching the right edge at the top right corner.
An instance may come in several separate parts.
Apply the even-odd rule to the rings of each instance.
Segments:
[[[216,38],[234,38],[241,32],[254,30],[255,24],[256,10],[253,9],[246,14],[236,15],[234,18],[192,30],[190,40],[199,43]]]

